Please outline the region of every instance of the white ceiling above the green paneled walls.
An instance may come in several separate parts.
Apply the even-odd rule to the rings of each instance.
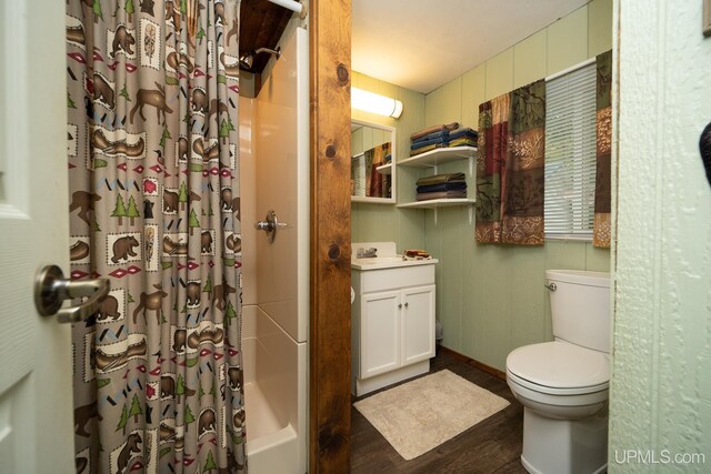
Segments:
[[[429,93],[590,0],[352,0],[353,71]]]

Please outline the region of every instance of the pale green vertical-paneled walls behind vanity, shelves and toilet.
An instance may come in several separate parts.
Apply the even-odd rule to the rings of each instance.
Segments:
[[[425,97],[358,73],[353,85],[404,102],[400,120],[380,122],[397,127],[398,158],[402,159],[412,131],[453,121],[477,129],[478,108],[484,100],[611,47],[612,0],[593,0]],[[464,162],[453,163],[439,172],[464,169]],[[422,172],[399,168],[398,173],[399,195],[411,194]],[[499,370],[505,369],[505,357],[514,347],[552,339],[543,289],[547,269],[610,269],[610,252],[584,242],[548,241],[542,248],[478,245],[467,208],[440,209],[435,224],[432,211],[353,204],[352,236],[353,241],[394,240],[398,250],[421,246],[440,259],[437,316],[444,325],[443,345]]]

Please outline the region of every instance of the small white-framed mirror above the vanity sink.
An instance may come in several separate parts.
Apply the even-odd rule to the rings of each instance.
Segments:
[[[351,120],[351,201],[394,204],[395,129]]]

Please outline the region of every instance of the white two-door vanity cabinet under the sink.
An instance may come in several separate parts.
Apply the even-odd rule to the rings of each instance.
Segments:
[[[352,270],[352,391],[425,373],[434,356],[434,264]]]

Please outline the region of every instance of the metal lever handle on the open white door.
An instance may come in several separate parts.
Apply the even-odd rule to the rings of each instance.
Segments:
[[[97,314],[99,301],[109,294],[109,288],[107,279],[73,282],[64,278],[59,266],[47,265],[34,280],[34,306],[42,316],[57,314],[60,323],[76,323]],[[64,300],[83,296],[89,299],[77,306],[61,309]]]

